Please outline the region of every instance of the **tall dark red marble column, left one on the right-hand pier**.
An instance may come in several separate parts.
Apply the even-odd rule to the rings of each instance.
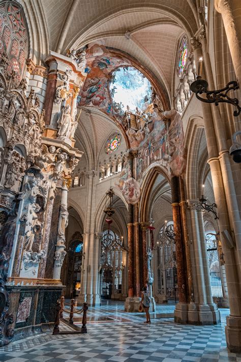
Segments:
[[[186,283],[186,263],[185,263],[185,245],[182,235],[182,218],[179,210],[179,180],[174,176],[171,178],[172,193],[172,214],[176,243],[176,264],[177,264],[177,287],[179,303],[187,303],[187,283]]]

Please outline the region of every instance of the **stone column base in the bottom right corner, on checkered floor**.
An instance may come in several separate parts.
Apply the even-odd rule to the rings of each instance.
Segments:
[[[241,317],[228,316],[226,318],[225,335],[230,352],[241,352]]]

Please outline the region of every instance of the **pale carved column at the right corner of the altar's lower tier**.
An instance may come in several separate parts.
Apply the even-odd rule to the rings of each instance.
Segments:
[[[68,188],[64,181],[61,195],[61,207],[58,220],[58,237],[54,253],[53,279],[60,279],[61,268],[66,256],[65,251],[65,229],[68,226],[68,209],[67,209]]]

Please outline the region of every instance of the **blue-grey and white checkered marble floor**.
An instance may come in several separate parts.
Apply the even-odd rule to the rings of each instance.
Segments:
[[[173,310],[174,305],[158,305],[156,315]],[[172,318],[153,318],[152,324],[144,324],[142,315],[124,312],[123,302],[104,302],[101,307],[89,308],[88,316],[111,315],[129,322],[92,322],[87,325],[86,335],[45,333],[25,339],[22,343],[28,344],[27,349],[22,349],[18,341],[12,346],[19,349],[2,351],[0,361],[241,362],[241,354],[229,353],[226,348],[224,326],[228,313],[228,309],[221,310],[222,324],[216,326],[181,325]]]

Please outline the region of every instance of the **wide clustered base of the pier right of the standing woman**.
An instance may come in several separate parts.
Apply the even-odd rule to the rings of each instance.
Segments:
[[[220,312],[215,303],[177,303],[174,311],[174,321],[182,324],[219,324]]]

